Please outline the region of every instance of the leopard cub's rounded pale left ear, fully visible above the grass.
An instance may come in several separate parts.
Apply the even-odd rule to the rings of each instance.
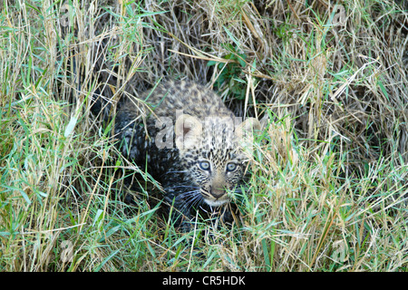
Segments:
[[[199,145],[202,133],[201,122],[188,114],[182,114],[176,120],[176,147],[179,150],[193,148]]]

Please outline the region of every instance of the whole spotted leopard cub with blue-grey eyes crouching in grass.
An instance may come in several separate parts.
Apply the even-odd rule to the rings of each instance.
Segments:
[[[160,181],[178,223],[193,216],[195,205],[227,204],[227,189],[237,189],[246,160],[232,111],[215,92],[189,81],[163,82],[141,100],[152,108],[144,111],[146,126],[139,101],[129,98],[117,113],[115,133],[122,154],[147,164]]]

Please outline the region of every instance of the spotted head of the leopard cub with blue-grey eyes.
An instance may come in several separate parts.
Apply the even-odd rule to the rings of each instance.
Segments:
[[[231,117],[198,120],[181,115],[175,125],[176,147],[186,172],[203,200],[212,207],[229,201],[228,189],[236,189],[251,154],[252,131],[259,122],[248,119],[238,124]]]

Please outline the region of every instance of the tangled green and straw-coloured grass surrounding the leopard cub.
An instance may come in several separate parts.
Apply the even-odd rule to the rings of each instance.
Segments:
[[[407,270],[404,2],[85,3],[2,4],[2,271]],[[239,225],[174,229],[92,116],[163,77],[267,116]]]

